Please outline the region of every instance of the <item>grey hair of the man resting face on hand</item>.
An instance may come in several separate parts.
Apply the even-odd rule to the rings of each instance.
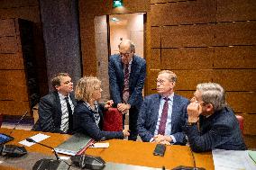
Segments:
[[[203,83],[197,85],[205,103],[211,103],[215,111],[222,110],[227,104],[224,97],[224,88],[216,83]]]

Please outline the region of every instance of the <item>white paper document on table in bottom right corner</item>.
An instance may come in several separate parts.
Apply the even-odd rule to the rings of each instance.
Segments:
[[[223,150],[212,151],[216,170],[252,170],[256,164],[249,157],[248,150]]]

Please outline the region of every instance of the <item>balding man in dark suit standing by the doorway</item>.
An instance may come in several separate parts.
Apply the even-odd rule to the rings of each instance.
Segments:
[[[135,47],[131,40],[123,40],[119,45],[119,54],[109,58],[108,76],[110,94],[117,109],[124,114],[129,111],[128,139],[138,136],[137,120],[142,105],[142,89],[146,76],[145,59],[134,55]]]

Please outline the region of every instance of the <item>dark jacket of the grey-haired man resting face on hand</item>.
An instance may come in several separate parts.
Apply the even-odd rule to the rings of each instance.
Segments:
[[[195,152],[215,148],[226,150],[245,150],[239,123],[230,108],[215,112],[208,118],[200,116],[200,131],[197,125],[185,126],[190,147]]]

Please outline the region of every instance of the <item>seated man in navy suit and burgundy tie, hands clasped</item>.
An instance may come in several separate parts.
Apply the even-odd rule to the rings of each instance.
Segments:
[[[145,97],[138,119],[142,141],[162,144],[186,144],[182,127],[187,121],[189,101],[174,94],[177,76],[169,71],[160,71],[157,78],[158,94]]]

